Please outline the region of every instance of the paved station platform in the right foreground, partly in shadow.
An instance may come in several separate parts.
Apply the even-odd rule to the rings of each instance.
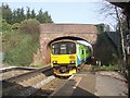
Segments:
[[[123,96],[128,87],[122,81],[92,73],[75,74],[51,96]]]

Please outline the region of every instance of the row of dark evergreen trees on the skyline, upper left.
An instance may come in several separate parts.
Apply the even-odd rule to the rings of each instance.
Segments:
[[[24,9],[16,9],[11,11],[8,4],[3,4],[0,7],[2,11],[2,19],[6,21],[9,24],[21,23],[26,19],[37,19],[40,23],[52,23],[51,15],[49,15],[48,11],[43,12],[42,9],[39,10],[36,15],[35,10],[30,11],[30,8],[27,7],[26,14],[24,13]]]

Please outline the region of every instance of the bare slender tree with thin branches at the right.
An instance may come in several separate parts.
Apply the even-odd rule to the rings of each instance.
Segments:
[[[113,19],[115,19],[117,21],[117,27],[116,27],[116,32],[118,32],[120,34],[120,38],[121,38],[121,46],[118,49],[118,53],[119,53],[119,59],[122,60],[122,63],[119,62],[119,64],[121,65],[121,70],[125,72],[125,63],[126,63],[126,52],[125,52],[125,39],[123,39],[123,30],[122,30],[122,23],[123,23],[123,14],[121,13],[121,9],[119,9],[118,7],[115,7],[108,2],[105,2],[104,8],[101,9],[102,13],[106,14],[107,16],[113,16]]]

